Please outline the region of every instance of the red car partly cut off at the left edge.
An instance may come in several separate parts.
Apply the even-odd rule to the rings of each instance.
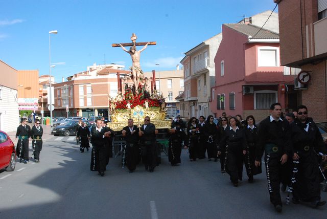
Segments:
[[[14,171],[16,166],[15,145],[7,135],[0,131],[0,169]]]

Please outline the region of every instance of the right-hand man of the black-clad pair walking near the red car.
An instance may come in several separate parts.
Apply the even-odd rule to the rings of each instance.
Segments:
[[[32,148],[35,163],[40,162],[40,151],[42,150],[42,135],[43,128],[40,125],[40,120],[35,120],[35,125],[32,127]]]

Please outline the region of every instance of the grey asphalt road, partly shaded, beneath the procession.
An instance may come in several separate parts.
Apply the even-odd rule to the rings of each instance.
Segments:
[[[17,163],[13,172],[0,172],[0,218],[326,218],[326,206],[286,205],[287,193],[283,212],[277,213],[265,171],[254,184],[244,171],[235,188],[218,163],[190,162],[186,150],[179,166],[162,154],[153,173],[143,165],[129,173],[113,158],[104,177],[89,170],[90,156],[72,137],[44,141],[40,163],[31,159]]]

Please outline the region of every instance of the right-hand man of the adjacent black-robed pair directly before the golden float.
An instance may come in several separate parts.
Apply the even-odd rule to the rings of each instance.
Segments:
[[[154,167],[157,165],[157,151],[155,139],[155,125],[150,123],[150,117],[144,118],[144,124],[141,126],[142,135],[142,160],[146,170],[153,172]]]

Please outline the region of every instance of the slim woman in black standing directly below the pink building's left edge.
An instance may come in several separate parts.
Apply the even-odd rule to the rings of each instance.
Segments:
[[[204,135],[206,137],[206,148],[208,159],[215,159],[217,162],[217,126],[214,123],[214,117],[212,115],[208,116],[204,125]]]

